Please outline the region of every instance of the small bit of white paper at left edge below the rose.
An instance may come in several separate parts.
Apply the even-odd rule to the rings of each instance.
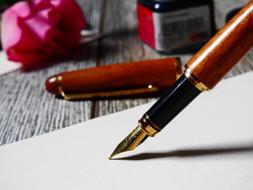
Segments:
[[[15,71],[21,67],[21,64],[9,61],[6,54],[0,51],[0,76]]]

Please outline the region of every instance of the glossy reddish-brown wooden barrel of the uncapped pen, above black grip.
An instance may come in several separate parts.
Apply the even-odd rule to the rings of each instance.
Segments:
[[[188,71],[213,88],[253,46],[253,0],[187,63]]]

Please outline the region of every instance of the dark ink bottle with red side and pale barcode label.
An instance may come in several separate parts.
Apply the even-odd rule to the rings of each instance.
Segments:
[[[139,38],[164,53],[187,53],[215,33],[213,0],[138,0]]]

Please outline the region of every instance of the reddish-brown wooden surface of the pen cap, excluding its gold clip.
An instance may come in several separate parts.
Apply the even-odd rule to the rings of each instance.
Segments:
[[[181,71],[178,64],[178,58],[164,58],[63,72],[47,79],[46,89],[58,96],[59,85],[69,94],[137,89],[148,84],[166,89]]]

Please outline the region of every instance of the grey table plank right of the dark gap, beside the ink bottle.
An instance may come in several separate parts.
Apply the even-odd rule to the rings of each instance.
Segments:
[[[101,32],[109,36],[102,40],[99,65],[157,58],[160,55],[144,47],[137,37],[136,1],[105,1]],[[150,101],[150,99],[105,100],[96,102],[95,116],[121,111]]]

